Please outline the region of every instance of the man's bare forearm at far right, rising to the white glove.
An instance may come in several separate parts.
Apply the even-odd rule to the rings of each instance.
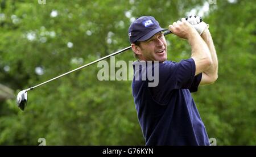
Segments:
[[[212,65],[209,67],[209,69],[204,70],[199,86],[212,84],[218,78],[218,59],[216,50],[214,48],[212,36],[210,35],[210,31],[208,28],[205,28],[204,32],[201,34],[201,37],[203,38],[203,40],[205,41],[210,50],[210,56],[212,57]]]

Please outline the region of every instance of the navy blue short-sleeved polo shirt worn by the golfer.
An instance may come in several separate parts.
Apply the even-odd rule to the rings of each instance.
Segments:
[[[133,66],[139,63],[136,61]],[[143,68],[134,69],[134,74],[141,73]],[[139,80],[134,78],[132,83],[146,145],[209,146],[207,131],[191,96],[202,78],[202,74],[195,76],[194,60],[165,61],[152,68],[159,70],[158,86],[148,87],[150,80],[141,77]]]

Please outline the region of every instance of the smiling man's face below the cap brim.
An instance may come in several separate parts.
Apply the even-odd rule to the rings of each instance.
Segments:
[[[159,61],[167,60],[167,43],[162,32],[156,33],[150,39],[141,41],[138,51],[141,60]]]

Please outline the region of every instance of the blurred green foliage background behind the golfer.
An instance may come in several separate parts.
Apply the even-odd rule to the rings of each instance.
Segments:
[[[0,145],[144,145],[131,81],[99,81],[97,65],[28,92],[24,112],[16,94],[129,46],[135,18],[160,26],[199,15],[216,46],[216,83],[193,98],[217,145],[256,143],[255,0],[0,0]],[[191,55],[187,41],[166,36],[168,60]],[[131,50],[115,61],[135,61]],[[110,62],[110,60],[106,60]]]

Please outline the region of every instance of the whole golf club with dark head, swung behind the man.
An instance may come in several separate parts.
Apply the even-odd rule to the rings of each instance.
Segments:
[[[191,17],[191,16],[190,16],[190,17]],[[195,16],[195,17],[196,17],[196,16]],[[185,18],[185,19],[187,20],[188,18]],[[200,22],[202,22],[202,19],[201,19],[201,18],[200,18]],[[172,32],[171,32],[171,31],[166,31],[166,32],[164,32],[164,36],[166,36],[166,35],[168,35],[168,34],[170,34],[170,33],[172,33]],[[20,92],[18,93],[18,95],[17,95],[16,104],[18,105],[18,107],[19,107],[20,109],[22,109],[22,111],[24,111],[24,108],[26,107],[27,101],[28,101],[28,97],[27,97],[27,92],[28,92],[28,91],[33,90],[33,89],[35,89],[35,88],[37,88],[37,87],[39,87],[39,86],[42,86],[43,84],[46,84],[46,83],[48,83],[48,82],[51,82],[52,80],[55,80],[55,79],[64,77],[65,75],[68,75],[68,74],[70,74],[70,73],[73,73],[73,72],[75,72],[75,71],[77,71],[77,70],[80,70],[80,69],[86,67],[86,66],[92,65],[93,63],[97,63],[97,62],[102,61],[102,60],[105,60],[106,58],[109,58],[109,57],[111,57],[111,56],[115,56],[116,54],[125,52],[126,50],[129,50],[129,49],[131,49],[131,46],[128,46],[127,48],[118,50],[117,52],[114,52],[114,53],[112,53],[112,54],[109,54],[108,56],[99,58],[98,60],[93,61],[93,62],[90,62],[90,63],[88,63],[88,64],[86,64],[86,65],[77,67],[77,69],[68,71],[68,72],[65,73],[65,74],[62,74],[62,75],[59,75],[59,76],[57,76],[57,77],[55,77],[55,78],[49,79],[49,80],[47,80],[46,82],[40,83],[40,84],[38,84],[38,85],[36,85],[36,86],[34,86],[34,87],[30,87],[30,88],[27,88],[26,90],[22,90],[22,91],[20,91]]]

